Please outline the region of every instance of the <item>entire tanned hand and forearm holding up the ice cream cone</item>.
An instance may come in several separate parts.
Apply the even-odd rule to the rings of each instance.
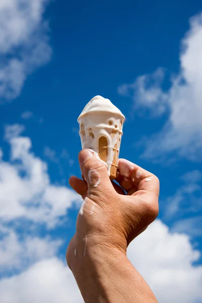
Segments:
[[[84,199],[83,212],[78,214],[66,260],[84,301],[157,302],[127,259],[126,249],[158,216],[159,179],[119,159],[118,185],[89,149],[81,150],[79,164],[83,180],[72,176],[69,183]]]

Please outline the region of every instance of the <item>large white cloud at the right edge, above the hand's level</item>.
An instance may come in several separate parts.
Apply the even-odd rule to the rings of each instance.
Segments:
[[[190,19],[190,29],[181,41],[180,73],[171,78],[168,91],[162,90],[164,70],[138,77],[133,84],[120,86],[137,109],[161,115],[168,109],[163,129],[143,142],[143,157],[161,159],[174,151],[180,157],[201,160],[202,148],[202,13]]]

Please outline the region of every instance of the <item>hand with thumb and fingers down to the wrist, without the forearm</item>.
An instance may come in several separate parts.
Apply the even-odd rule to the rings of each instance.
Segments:
[[[67,249],[67,262],[70,263],[74,247],[84,239],[88,247],[114,247],[126,253],[129,243],[158,216],[159,179],[119,159],[116,179],[119,186],[110,181],[106,165],[89,149],[80,151],[79,163],[84,180],[73,176],[69,183],[84,201],[76,233]]]

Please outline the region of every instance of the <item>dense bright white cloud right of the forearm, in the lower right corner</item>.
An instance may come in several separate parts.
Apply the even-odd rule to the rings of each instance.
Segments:
[[[160,303],[202,300],[202,266],[192,265],[199,252],[187,235],[170,233],[156,220],[129,245],[127,255]]]

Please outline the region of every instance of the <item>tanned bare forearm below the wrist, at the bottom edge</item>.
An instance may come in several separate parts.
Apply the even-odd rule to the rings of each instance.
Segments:
[[[157,302],[124,252],[99,245],[88,246],[85,239],[80,247],[71,269],[85,303]]]

